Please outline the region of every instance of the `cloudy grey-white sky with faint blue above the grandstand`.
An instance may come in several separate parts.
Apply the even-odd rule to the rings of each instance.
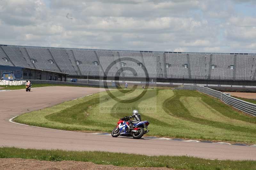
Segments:
[[[0,0],[0,44],[256,53],[255,0]]]

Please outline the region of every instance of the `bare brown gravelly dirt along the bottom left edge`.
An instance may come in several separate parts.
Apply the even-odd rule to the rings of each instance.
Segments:
[[[151,167],[120,167],[113,165],[98,165],[92,162],[80,162],[80,161],[40,161],[36,159],[20,159],[20,158],[4,158],[0,159],[0,169],[5,170],[73,170],[73,169],[152,169],[152,170],[167,170],[168,168],[151,168]],[[172,169],[168,169],[172,170]]]

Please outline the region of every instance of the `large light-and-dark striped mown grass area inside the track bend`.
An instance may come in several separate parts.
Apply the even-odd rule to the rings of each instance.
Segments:
[[[142,90],[111,92],[119,99],[134,99]],[[188,90],[148,89],[133,103],[120,103],[100,92],[20,115],[14,121],[53,129],[111,132],[118,119],[131,115],[135,108],[142,120],[150,122],[150,136],[256,144],[256,117]]]

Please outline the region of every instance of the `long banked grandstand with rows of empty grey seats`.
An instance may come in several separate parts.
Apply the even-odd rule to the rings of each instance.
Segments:
[[[69,74],[182,80],[255,81],[256,54],[129,51],[0,45],[0,65]],[[147,70],[145,72],[144,70]]]

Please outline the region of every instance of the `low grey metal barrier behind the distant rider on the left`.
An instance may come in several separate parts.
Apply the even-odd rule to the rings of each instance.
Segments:
[[[57,85],[79,85],[79,86],[90,86],[90,87],[104,87],[104,85],[99,84],[85,84],[85,83],[74,83],[74,82],[66,82],[66,81],[52,81],[52,80],[30,80],[32,85],[33,84],[57,84]],[[102,83],[103,84],[103,83]],[[109,85],[108,87],[116,87],[113,85]]]

